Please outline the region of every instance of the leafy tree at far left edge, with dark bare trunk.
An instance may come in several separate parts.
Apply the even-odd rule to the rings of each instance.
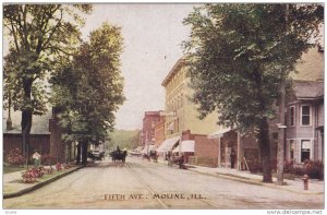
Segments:
[[[28,151],[33,115],[43,115],[47,79],[80,43],[82,14],[89,4],[4,4],[4,99],[22,111],[22,146]]]

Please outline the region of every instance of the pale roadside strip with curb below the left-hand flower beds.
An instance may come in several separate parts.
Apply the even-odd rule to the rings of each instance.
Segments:
[[[3,184],[3,199],[8,199],[8,198],[15,198],[25,193],[28,193],[31,191],[34,191],[38,188],[41,188],[63,176],[66,176],[80,168],[82,168],[83,166],[73,166],[70,169],[66,169],[65,171],[62,172],[58,172],[57,170],[55,170],[55,174],[52,175],[44,175],[44,177],[41,178],[41,181],[37,181],[35,183],[24,183],[22,180],[22,172],[24,171],[14,171],[14,172],[10,172],[10,174],[3,174],[2,177],[2,184]]]

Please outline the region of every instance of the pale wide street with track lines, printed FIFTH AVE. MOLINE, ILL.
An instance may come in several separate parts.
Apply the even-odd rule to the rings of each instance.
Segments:
[[[206,176],[141,158],[96,163],[4,208],[323,208],[323,194],[299,194]]]

